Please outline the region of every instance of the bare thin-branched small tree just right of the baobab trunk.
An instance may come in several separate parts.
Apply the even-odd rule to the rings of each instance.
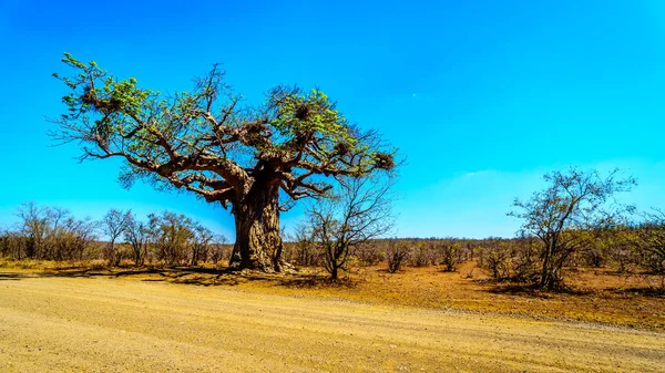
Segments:
[[[331,279],[346,269],[349,250],[392,227],[391,186],[391,178],[344,178],[334,200],[318,200],[308,209],[314,242],[323,251]]]

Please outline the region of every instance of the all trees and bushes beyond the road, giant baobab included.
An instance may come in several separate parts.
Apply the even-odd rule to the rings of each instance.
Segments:
[[[54,76],[70,93],[62,97],[66,112],[51,120],[51,137],[78,143],[81,159],[123,159],[125,187],[141,178],[231,208],[235,244],[227,252],[225,239],[171,213],[141,220],[111,210],[93,222],[28,204],[2,236],[6,256],[108,266],[224,261],[264,272],[295,265],[324,268],[332,279],[383,262],[390,273],[409,266],[453,272],[474,262],[495,280],[541,290],[565,289],[566,277],[584,266],[664,273],[664,215],[636,215],[634,206],[616,203],[636,185],[618,170],[545,175],[545,188],[516,199],[509,213],[522,224],[515,238],[386,240],[395,220],[397,149],[376,131],[352,125],[320,90],[277,86],[250,106],[218,65],[192,92],[165,95],[94,61],[65,53],[62,62],[70,73]],[[306,218],[285,242],[279,211],[303,198],[310,200]],[[95,240],[100,232],[104,242]]]

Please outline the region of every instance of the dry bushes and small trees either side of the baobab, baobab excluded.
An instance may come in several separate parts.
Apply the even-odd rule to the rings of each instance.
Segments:
[[[520,235],[487,239],[381,238],[393,221],[390,180],[349,178],[334,199],[310,205],[303,224],[287,235],[282,260],[295,269],[320,268],[334,280],[340,271],[362,268],[456,272],[471,266],[464,273],[470,279],[539,291],[574,290],[576,277],[594,270],[640,279],[638,287],[653,296],[665,292],[665,215],[641,214],[616,199],[634,179],[577,168],[544,178],[542,191],[516,199],[509,213],[522,221]],[[0,235],[0,253],[16,260],[235,269],[225,237],[168,211],[140,219],[111,209],[92,221],[29,203],[16,215],[19,222]]]

